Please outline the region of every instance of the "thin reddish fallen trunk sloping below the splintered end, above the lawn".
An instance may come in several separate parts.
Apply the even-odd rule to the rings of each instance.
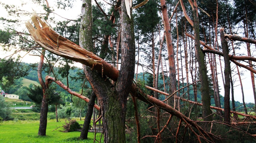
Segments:
[[[72,91],[68,86],[64,85],[61,81],[56,80],[54,77],[51,77],[51,76],[47,75],[47,76],[45,77],[45,80],[50,80],[50,81],[53,81],[53,82],[57,83],[60,87],[62,87],[63,89],[65,89],[65,90],[66,90],[67,92],[69,92],[70,94],[72,94],[72,95],[74,95],[74,96],[76,96],[76,97],[78,97],[78,98],[81,98],[81,99],[83,99],[83,100],[86,101],[86,102],[89,102],[89,101],[90,101],[89,98],[87,98],[87,97],[85,97],[85,96],[83,96],[83,95],[81,95],[81,94],[79,94],[79,93],[77,93],[77,92]],[[97,104],[94,104],[94,107],[95,107],[97,110],[99,110],[99,106],[98,106]]]

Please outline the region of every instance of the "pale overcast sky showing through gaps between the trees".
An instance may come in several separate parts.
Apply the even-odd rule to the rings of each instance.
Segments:
[[[101,0],[99,0],[99,1],[101,1]],[[5,4],[19,5],[19,6],[22,3],[21,0],[1,0],[1,2],[5,3]],[[36,4],[33,4],[30,0],[23,0],[23,2],[26,2],[26,3],[22,7],[20,7],[21,9],[26,10],[28,12],[32,12],[32,9],[34,9],[37,13],[40,13],[40,9],[39,9],[40,7],[38,7]],[[62,17],[65,17],[67,19],[76,19],[79,16],[79,14],[81,13],[81,0],[76,0],[75,3],[73,4],[73,8],[67,9],[67,10],[57,9],[57,7],[55,6],[56,3],[53,0],[48,0],[48,2],[49,2],[50,7],[54,8],[55,13],[57,13],[58,15],[60,15]],[[104,3],[104,1],[102,1],[102,3]],[[0,17],[7,17],[7,14],[8,13],[6,12],[6,10],[2,6],[0,6]],[[57,20],[59,20],[59,21],[64,20],[60,16],[55,15]],[[8,17],[8,18],[11,18],[11,17]],[[29,18],[29,16],[26,16],[26,17],[21,17],[20,19],[25,22],[26,20],[29,20],[30,18]],[[20,31],[23,31],[26,28],[24,24],[19,25],[19,27],[20,27]],[[2,23],[0,23],[0,29],[4,29],[4,25]],[[245,48],[242,48],[242,50],[245,50]],[[5,52],[5,51],[3,51],[2,48],[0,48],[0,56],[2,58],[9,56],[12,53],[13,53],[12,51]],[[19,54],[23,57],[26,53],[20,52]],[[216,56],[216,57],[218,57],[218,56]],[[218,59],[216,59],[216,60],[219,61]],[[39,57],[29,56],[29,54],[26,54],[26,56],[23,57],[22,61],[26,62],[26,63],[37,63],[39,61]],[[75,66],[81,67],[81,64],[76,63]],[[222,66],[224,66],[224,62],[222,63]],[[218,66],[218,67],[220,67],[220,66]],[[242,76],[242,83],[243,83],[244,94],[245,94],[245,102],[254,103],[254,96],[253,96],[253,92],[252,92],[250,72],[248,72],[247,70],[245,70],[243,68],[239,68],[239,70],[240,70],[240,72],[244,73],[244,75]],[[139,69],[139,71],[142,72],[141,69]],[[223,71],[224,71],[224,69],[223,69]],[[235,69],[235,71],[236,71],[236,69]],[[218,72],[220,72],[220,69],[218,69]],[[185,73],[184,73],[184,75],[185,75]],[[239,79],[238,79],[237,75],[235,77],[237,78],[236,83],[234,85],[235,101],[242,102],[242,94],[241,94],[241,87],[239,85]],[[218,80],[219,80],[219,85],[221,86],[220,87],[221,95],[224,96],[224,88],[223,88],[221,74],[218,74]],[[230,100],[231,100],[231,97],[230,97]]]

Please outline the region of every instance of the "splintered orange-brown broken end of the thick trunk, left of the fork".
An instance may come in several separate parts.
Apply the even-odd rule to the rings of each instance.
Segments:
[[[44,18],[40,18],[37,13],[35,13],[35,11],[31,16],[31,20],[35,27],[29,21],[25,22],[25,25],[29,30],[32,39],[35,40],[35,42],[37,42],[43,48],[56,55],[82,63],[86,66],[92,67],[94,65],[95,69],[102,70],[103,65],[106,65],[108,67],[104,67],[104,69],[109,70],[103,71],[103,74],[109,74],[113,72],[113,70],[117,72],[113,66],[111,67],[111,65],[102,64],[102,62],[106,62],[100,57],[57,34],[53,28],[44,20]]]

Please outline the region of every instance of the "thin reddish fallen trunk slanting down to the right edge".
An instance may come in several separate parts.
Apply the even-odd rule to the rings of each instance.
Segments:
[[[150,87],[150,86],[145,86],[145,87],[146,87],[147,89],[150,89],[150,90],[153,90],[153,91],[155,91],[155,92],[161,93],[161,94],[163,94],[163,95],[169,96],[169,94],[166,93],[166,92],[162,92],[162,91],[160,91],[160,90],[158,90],[158,89],[154,89],[154,88],[152,88],[152,87]],[[191,104],[196,104],[196,105],[199,105],[199,106],[203,106],[202,103],[190,101],[190,100],[184,99],[184,98],[182,98],[182,97],[177,97],[177,96],[176,96],[176,99],[180,99],[180,100],[182,100],[182,101],[185,101],[185,102],[188,102],[188,103],[191,103]],[[224,111],[223,108],[219,108],[219,107],[210,106],[210,108],[215,109],[215,110]],[[232,111],[232,110],[230,110],[230,113],[256,119],[256,116],[255,116],[255,115],[247,115],[247,114],[243,114],[243,113],[239,113],[239,112],[234,112],[234,111]]]

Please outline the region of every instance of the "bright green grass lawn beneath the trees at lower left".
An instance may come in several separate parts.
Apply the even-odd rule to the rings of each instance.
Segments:
[[[84,121],[78,121],[79,124],[83,124]],[[46,136],[38,136],[39,121],[4,121],[0,123],[0,142],[1,143],[48,143],[48,142],[86,142],[91,143],[94,139],[94,133],[88,134],[87,140],[78,140],[81,132],[69,132],[63,133],[59,130],[63,128],[57,127],[62,126],[65,121],[56,122],[55,120],[48,120]],[[101,133],[96,134],[96,139],[100,140]],[[103,142],[103,137],[101,139]]]

